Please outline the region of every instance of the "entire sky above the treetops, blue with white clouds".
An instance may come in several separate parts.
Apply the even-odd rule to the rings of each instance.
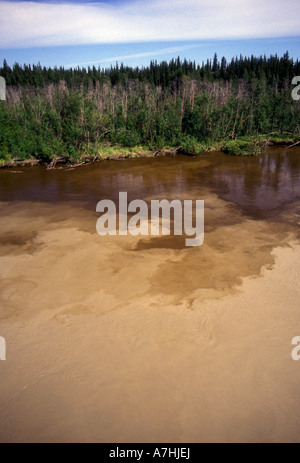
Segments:
[[[0,61],[131,66],[275,54],[300,59],[299,0],[0,0]]]

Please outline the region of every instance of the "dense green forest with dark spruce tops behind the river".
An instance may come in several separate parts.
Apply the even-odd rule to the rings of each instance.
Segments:
[[[229,62],[215,55],[202,65],[178,58],[135,69],[11,68],[4,61],[0,75],[7,84],[2,163],[96,158],[113,147],[192,154],[220,146],[243,154],[251,140],[300,137],[300,102],[291,97],[300,63],[288,53]]]

